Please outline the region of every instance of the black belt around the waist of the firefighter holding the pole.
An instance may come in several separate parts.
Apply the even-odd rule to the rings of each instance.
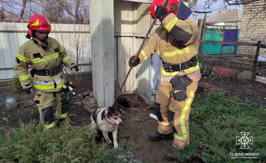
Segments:
[[[183,62],[183,63],[178,63],[178,64],[169,64],[165,62],[162,62],[162,63],[163,63],[163,67],[166,72],[174,72],[174,71],[181,71],[181,70],[189,69],[191,67],[195,67],[197,66],[197,62],[198,62],[197,57],[194,56],[190,60]]]

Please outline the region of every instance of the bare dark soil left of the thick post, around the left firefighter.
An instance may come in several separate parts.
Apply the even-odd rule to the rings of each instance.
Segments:
[[[76,83],[75,76],[69,76],[67,79],[74,84]],[[92,91],[92,76],[91,73],[81,75],[80,86],[75,90],[76,95],[83,92]],[[79,81],[79,80],[78,80]],[[89,82],[87,82],[89,81]],[[18,107],[16,109],[7,109],[5,100],[8,96],[16,99]],[[30,120],[39,120],[39,112],[34,102],[35,89],[30,95],[26,93],[13,92],[12,88],[0,87],[0,134],[3,134],[5,129],[19,127],[19,119],[22,122]],[[83,126],[88,122],[89,113],[85,109],[80,109],[80,104],[75,104],[69,113],[69,118],[77,126]],[[79,118],[77,118],[79,117]],[[3,118],[7,118],[7,121]]]

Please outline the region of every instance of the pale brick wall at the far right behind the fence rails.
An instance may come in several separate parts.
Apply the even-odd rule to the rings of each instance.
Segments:
[[[258,42],[266,41],[266,2],[257,1],[243,5],[243,12],[240,24],[239,41]],[[262,9],[264,10],[260,12]],[[250,21],[250,22],[249,22]],[[260,55],[266,55],[266,49],[260,49]],[[256,47],[239,46],[238,55],[254,58]]]

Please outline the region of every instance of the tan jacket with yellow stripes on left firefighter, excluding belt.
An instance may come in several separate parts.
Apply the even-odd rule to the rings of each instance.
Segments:
[[[34,38],[33,38],[34,39]],[[48,37],[48,45],[33,39],[24,43],[16,55],[15,72],[21,82],[23,89],[32,87],[30,76],[28,73],[28,65],[36,70],[51,70],[61,64],[72,68],[75,66],[74,61],[66,54],[64,47],[51,37]],[[43,50],[42,46],[47,46]],[[33,76],[33,86],[43,92],[60,91],[65,80],[61,73],[55,76]]]

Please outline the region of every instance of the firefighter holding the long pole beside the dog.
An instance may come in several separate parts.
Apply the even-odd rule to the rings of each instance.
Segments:
[[[157,51],[163,62],[159,80],[160,88],[155,102],[158,118],[156,132],[149,139],[172,139],[173,146],[184,149],[190,143],[189,112],[198,81],[201,78],[197,60],[198,27],[189,19],[191,10],[181,0],[153,0],[152,18],[161,21],[151,37],[146,41],[140,55],[129,60],[130,67],[144,62]],[[174,148],[166,151],[166,160],[175,160]]]

